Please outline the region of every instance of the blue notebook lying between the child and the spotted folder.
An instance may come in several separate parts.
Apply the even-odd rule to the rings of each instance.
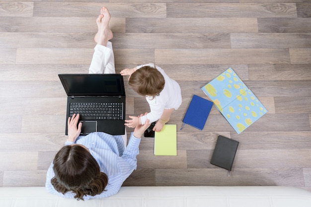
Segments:
[[[212,106],[213,102],[193,95],[182,122],[203,130]]]

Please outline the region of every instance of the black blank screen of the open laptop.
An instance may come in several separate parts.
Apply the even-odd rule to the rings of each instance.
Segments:
[[[120,74],[59,74],[68,96],[125,96]]]

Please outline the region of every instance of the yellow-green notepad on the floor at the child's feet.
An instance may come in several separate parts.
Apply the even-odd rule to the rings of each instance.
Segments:
[[[177,155],[176,124],[165,124],[155,132],[155,155]]]

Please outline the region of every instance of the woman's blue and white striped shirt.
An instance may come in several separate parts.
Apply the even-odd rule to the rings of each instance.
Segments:
[[[84,145],[90,151],[91,155],[99,164],[100,171],[108,176],[108,185],[101,194],[96,196],[84,196],[84,200],[91,198],[109,197],[121,188],[123,182],[137,167],[136,156],[139,154],[139,144],[141,139],[131,134],[127,148],[124,147],[124,141],[120,135],[113,136],[103,132],[94,132],[86,136],[79,136],[76,144]],[[74,144],[66,142],[65,145]],[[57,192],[51,184],[51,179],[55,176],[53,162],[48,172],[45,187],[48,192],[59,195],[63,198],[74,198],[75,194],[67,192],[65,195]]]

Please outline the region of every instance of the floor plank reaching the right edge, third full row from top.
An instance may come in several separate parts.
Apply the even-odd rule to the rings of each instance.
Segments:
[[[232,33],[232,48],[311,48],[311,33]]]

